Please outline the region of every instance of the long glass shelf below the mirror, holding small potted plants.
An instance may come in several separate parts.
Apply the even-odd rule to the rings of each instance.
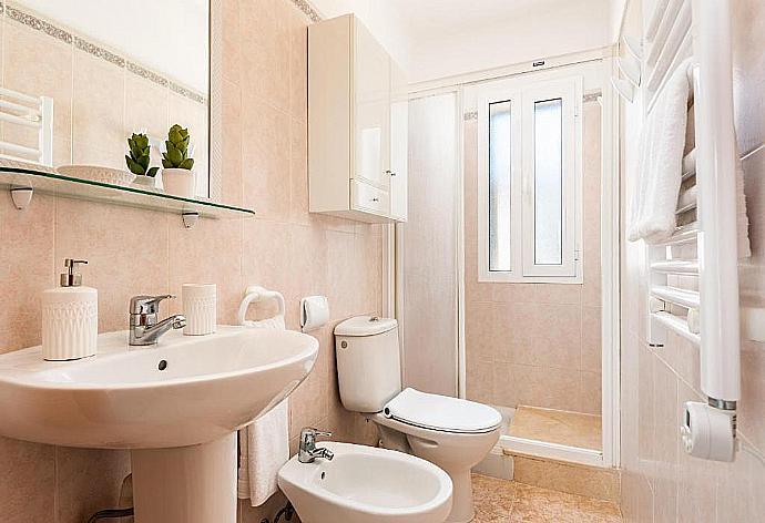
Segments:
[[[198,213],[207,218],[242,218],[255,216],[255,211],[213,202],[210,198],[184,198],[162,189],[141,185],[114,185],[93,180],[59,174],[52,167],[21,162],[0,162],[0,188],[32,187],[35,193],[67,198],[111,203],[171,214]]]

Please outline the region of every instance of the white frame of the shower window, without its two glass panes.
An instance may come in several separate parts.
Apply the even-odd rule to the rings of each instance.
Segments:
[[[563,101],[562,264],[534,264],[534,102]],[[489,270],[489,105],[511,102],[511,268]],[[581,284],[582,78],[492,82],[478,102],[478,279],[479,281]]]

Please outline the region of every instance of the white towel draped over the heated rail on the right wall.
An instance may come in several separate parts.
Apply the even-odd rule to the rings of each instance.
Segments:
[[[628,238],[649,244],[669,238],[677,221],[691,85],[690,60],[680,64],[643,124]]]

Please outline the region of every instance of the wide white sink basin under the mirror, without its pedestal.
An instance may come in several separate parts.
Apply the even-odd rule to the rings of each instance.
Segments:
[[[43,361],[41,347],[10,352],[0,356],[0,434],[105,449],[220,440],[292,392],[317,353],[310,336],[243,327],[173,331],[154,348],[110,332],[78,361]]]

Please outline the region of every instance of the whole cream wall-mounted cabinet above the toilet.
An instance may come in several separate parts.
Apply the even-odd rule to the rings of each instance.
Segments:
[[[400,68],[353,14],[308,27],[309,208],[407,219],[408,92]]]

